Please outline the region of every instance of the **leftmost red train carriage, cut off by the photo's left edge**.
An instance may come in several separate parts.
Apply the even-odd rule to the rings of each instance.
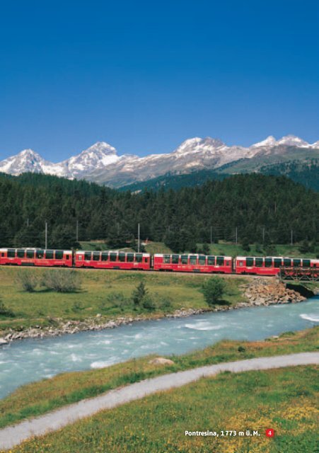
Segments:
[[[44,248],[0,248],[0,265],[66,266],[73,265],[71,250]]]

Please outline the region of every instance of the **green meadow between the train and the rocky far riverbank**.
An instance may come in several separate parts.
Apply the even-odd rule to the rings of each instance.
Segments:
[[[34,292],[25,292],[17,280],[21,273],[30,273],[41,280],[46,272],[42,268],[0,268],[0,299],[6,308],[13,311],[14,317],[0,314],[0,336],[9,328],[23,329],[29,326],[54,325],[56,319],[66,321],[83,320],[102,315],[102,319],[132,315],[150,315],[145,309],[134,310],[132,304],[118,301],[119,294],[124,299],[132,297],[132,291],[143,281],[155,302],[151,314],[184,308],[207,308],[200,289],[207,275],[172,273],[148,273],[143,271],[80,269],[64,272],[77,273],[81,278],[81,289],[69,293],[59,293],[45,287],[37,287]],[[52,270],[54,272],[54,270]],[[243,301],[241,286],[248,282],[243,277],[226,277],[228,304]],[[168,304],[162,304],[168,301]]]

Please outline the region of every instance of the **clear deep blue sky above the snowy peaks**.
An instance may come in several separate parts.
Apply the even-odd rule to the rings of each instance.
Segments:
[[[7,1],[0,159],[319,139],[318,1]]]

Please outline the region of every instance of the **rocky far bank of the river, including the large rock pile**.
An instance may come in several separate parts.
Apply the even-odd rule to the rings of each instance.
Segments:
[[[124,326],[137,321],[150,321],[154,319],[181,318],[192,316],[194,314],[202,314],[208,311],[226,311],[232,309],[240,309],[249,306],[268,306],[272,304],[294,304],[306,300],[299,292],[294,289],[289,289],[282,282],[277,280],[265,280],[256,278],[248,285],[243,286],[243,294],[246,302],[239,302],[235,306],[219,305],[216,307],[207,307],[203,309],[185,309],[175,310],[172,314],[152,314],[149,316],[122,316],[117,319],[103,319],[103,316],[98,314],[94,318],[84,321],[64,321],[63,319],[51,319],[51,326],[34,326],[21,331],[9,331],[0,338],[0,345],[9,343],[12,340],[23,340],[24,338],[45,338],[61,336],[66,333],[78,333],[82,331],[100,331],[105,328],[115,328]]]

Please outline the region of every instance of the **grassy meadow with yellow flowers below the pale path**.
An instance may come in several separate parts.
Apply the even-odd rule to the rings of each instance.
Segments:
[[[313,453],[318,367],[231,374],[102,411],[24,442],[13,453]],[[265,430],[274,429],[274,438]],[[185,430],[258,430],[259,437],[188,437]]]

